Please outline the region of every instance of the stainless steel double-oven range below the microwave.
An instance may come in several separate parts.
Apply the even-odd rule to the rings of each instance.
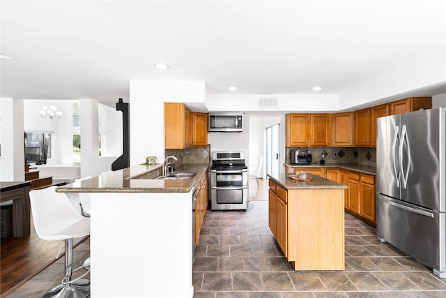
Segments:
[[[210,207],[213,210],[247,210],[248,170],[245,152],[212,153]]]

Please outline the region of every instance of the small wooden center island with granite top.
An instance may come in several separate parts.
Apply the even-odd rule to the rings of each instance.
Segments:
[[[311,175],[268,174],[268,225],[298,270],[344,270],[344,196],[347,186]]]

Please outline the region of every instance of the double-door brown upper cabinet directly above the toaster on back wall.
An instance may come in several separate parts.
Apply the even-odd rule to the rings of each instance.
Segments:
[[[328,146],[330,114],[286,114],[286,146]]]

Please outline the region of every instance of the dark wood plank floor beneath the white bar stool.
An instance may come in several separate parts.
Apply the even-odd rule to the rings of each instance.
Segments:
[[[74,239],[77,246],[88,237]],[[0,297],[6,297],[16,288],[56,261],[62,241],[45,241],[34,230],[27,237],[1,239]],[[63,257],[64,248],[59,258]]]

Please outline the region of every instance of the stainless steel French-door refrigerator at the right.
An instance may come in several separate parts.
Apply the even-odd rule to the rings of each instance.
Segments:
[[[376,232],[446,278],[444,108],[377,119]]]

